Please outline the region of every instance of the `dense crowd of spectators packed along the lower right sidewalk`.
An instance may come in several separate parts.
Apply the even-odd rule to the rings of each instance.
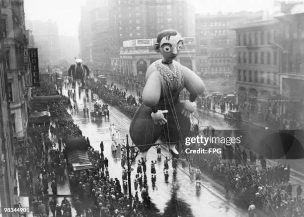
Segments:
[[[213,144],[203,148],[213,148]],[[195,148],[195,147],[193,147]],[[234,193],[234,200],[240,206],[247,206],[253,201],[259,210],[270,217],[302,217],[304,216],[304,199],[301,198],[302,189],[298,187],[297,198],[291,196],[287,183],[290,180],[290,166],[278,164],[276,166],[257,169],[255,161],[243,158],[245,150],[235,147],[235,157],[223,159],[222,154],[187,154],[192,165],[198,165],[202,171],[213,176],[225,186],[226,192]],[[234,159],[234,160],[232,160]],[[263,158],[259,158],[264,162]],[[266,162],[266,161],[265,161]],[[301,190],[299,190],[301,189]]]

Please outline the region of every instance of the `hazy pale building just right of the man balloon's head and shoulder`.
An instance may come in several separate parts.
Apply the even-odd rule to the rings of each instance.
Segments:
[[[200,74],[233,74],[234,25],[262,20],[262,12],[195,15],[196,69]]]

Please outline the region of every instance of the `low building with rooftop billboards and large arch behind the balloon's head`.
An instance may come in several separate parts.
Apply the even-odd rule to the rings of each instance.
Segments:
[[[161,55],[154,51],[156,38],[134,39],[123,42],[120,50],[121,72],[133,76],[145,76],[148,67],[156,60],[161,59]],[[112,64],[117,66],[117,61],[112,59]],[[195,39],[192,37],[184,38],[184,45],[179,52],[176,61],[195,69]]]

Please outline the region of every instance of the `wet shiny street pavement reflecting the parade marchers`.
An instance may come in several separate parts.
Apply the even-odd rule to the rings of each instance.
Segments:
[[[67,94],[67,90],[63,90],[64,94]],[[111,137],[109,127],[110,124],[114,124],[116,130],[121,133],[123,139],[129,134],[129,124],[131,119],[126,117],[116,108],[109,106],[110,117],[109,118],[96,118],[91,119],[87,117],[87,114],[83,114],[83,108],[88,108],[89,111],[93,110],[93,103],[89,92],[89,98],[84,94],[84,90],[81,90],[80,97],[78,96],[78,89],[76,87],[76,101],[72,100],[72,103],[76,104],[76,112],[73,110],[72,117],[75,124],[77,124],[82,131],[82,135],[88,137],[90,145],[96,150],[100,150],[99,144],[103,141],[104,155],[109,159],[109,176],[112,178],[118,178],[122,183],[122,167],[120,160],[120,150],[116,153],[111,151]],[[99,100],[100,104],[103,104],[102,100]],[[129,141],[130,142],[130,141]],[[164,154],[166,150],[162,151]],[[140,155],[137,157],[140,159]],[[157,159],[156,149],[151,148],[147,155],[147,184],[148,192],[151,197],[152,203],[160,211],[160,213],[167,213],[168,210],[175,209],[176,213],[180,213],[181,216],[195,216],[195,217],[243,217],[246,215],[242,209],[236,207],[233,203],[228,201],[222,196],[212,183],[203,180],[200,190],[197,190],[195,186],[195,180],[188,172],[188,165],[183,168],[179,163],[178,169],[173,173],[171,161],[169,162],[169,176],[165,179],[163,174],[163,159]],[[156,181],[152,183],[150,173],[150,162],[156,160]],[[133,165],[134,169],[136,167]],[[132,194],[135,194],[133,180],[135,178],[136,171],[131,173],[132,180]],[[144,180],[144,178],[143,178]],[[139,192],[140,197],[140,192]],[[141,199],[141,197],[140,197]],[[192,214],[188,210],[191,210]],[[175,215],[173,215],[175,216]]]

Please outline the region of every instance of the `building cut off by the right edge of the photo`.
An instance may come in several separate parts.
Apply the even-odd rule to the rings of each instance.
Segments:
[[[297,8],[294,14],[276,17],[281,23],[276,43],[282,58],[278,83],[280,95],[288,99],[280,103],[280,110],[291,128],[304,123],[304,11]]]

